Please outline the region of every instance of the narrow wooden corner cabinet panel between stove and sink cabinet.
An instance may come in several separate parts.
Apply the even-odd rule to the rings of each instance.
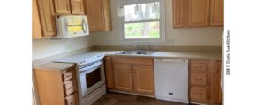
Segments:
[[[114,88],[114,73],[112,68],[111,57],[104,58],[105,63],[105,74],[106,74],[106,85],[107,88]]]

